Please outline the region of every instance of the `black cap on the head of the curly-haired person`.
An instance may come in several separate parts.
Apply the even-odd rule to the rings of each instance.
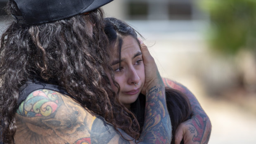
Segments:
[[[113,0],[14,0],[22,16],[14,16],[20,24],[42,24],[90,12]]]

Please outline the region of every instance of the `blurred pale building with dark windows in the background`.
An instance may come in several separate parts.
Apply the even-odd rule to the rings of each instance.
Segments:
[[[197,0],[114,0],[103,9],[107,17],[127,21],[148,36],[147,40],[156,34],[159,37],[154,36],[154,40],[168,39],[173,33],[197,35],[208,23]]]

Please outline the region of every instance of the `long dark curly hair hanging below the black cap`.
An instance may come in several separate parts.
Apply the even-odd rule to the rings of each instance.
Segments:
[[[6,9],[9,14],[21,15],[13,0],[9,0]],[[109,41],[102,21],[103,11],[97,9],[51,23],[9,24],[0,45],[3,142],[14,142],[19,88],[31,79],[63,87],[78,103],[105,118],[116,130],[121,128],[132,137],[138,135],[135,118],[130,118],[133,113],[119,103],[110,86],[107,73],[114,80],[114,72],[106,62]]]

